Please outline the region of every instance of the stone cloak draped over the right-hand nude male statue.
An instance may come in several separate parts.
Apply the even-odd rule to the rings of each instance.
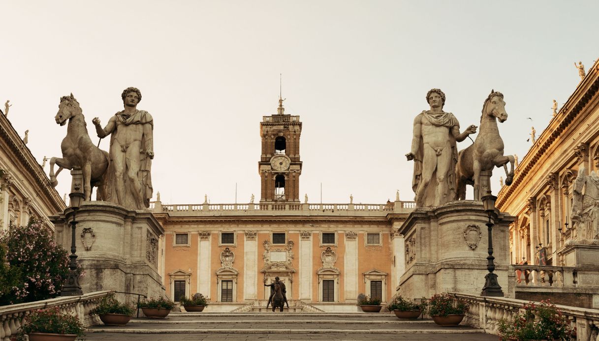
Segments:
[[[430,112],[430,111],[422,111],[418,114],[417,118],[422,120],[422,118],[426,118],[432,125],[438,127],[447,127],[447,134],[449,134],[449,141],[451,144],[451,163],[449,165],[449,171],[447,171],[447,176],[445,177],[445,181],[447,182],[446,188],[448,189],[445,199],[441,198],[441,203],[450,202],[455,200],[456,198],[456,179],[455,179],[455,166],[458,163],[458,148],[456,146],[455,137],[451,133],[451,129],[453,126],[457,126],[459,129],[458,119],[451,112]],[[422,180],[422,159],[424,158],[424,141],[422,138],[422,134],[420,135],[420,139],[418,141],[418,151],[416,151],[416,157],[414,160],[414,174],[412,178],[412,190],[414,193],[418,191],[418,185]],[[437,188],[437,169],[432,173],[431,182],[429,182],[426,187],[422,197],[415,198],[416,207],[430,207],[435,206],[434,197],[435,190]]]

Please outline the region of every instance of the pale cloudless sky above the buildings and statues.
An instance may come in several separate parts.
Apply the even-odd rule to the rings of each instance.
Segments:
[[[0,100],[38,162],[62,156],[60,96],[77,98],[96,143],[92,118],[104,126],[123,89],[138,87],[163,204],[259,200],[259,122],[276,114],[280,89],[303,124],[300,198],[384,203],[398,190],[413,200],[404,155],[429,89],[443,90],[461,130],[479,125],[491,89],[502,92],[505,154],[522,160],[531,126],[540,135],[552,99],[561,107],[579,84],[573,63],[588,69],[599,56],[597,1],[58,0],[0,11]],[[61,196],[69,178],[58,176]]]

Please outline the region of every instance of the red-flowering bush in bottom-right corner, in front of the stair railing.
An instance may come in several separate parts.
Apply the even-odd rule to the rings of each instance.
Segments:
[[[499,321],[501,340],[576,340],[567,316],[549,300],[540,305],[530,302],[522,308],[524,312],[513,315],[512,321]]]

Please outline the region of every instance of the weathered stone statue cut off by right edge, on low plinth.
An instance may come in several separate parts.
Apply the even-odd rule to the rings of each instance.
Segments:
[[[571,217],[577,238],[599,239],[599,176],[595,171],[586,175],[584,166],[574,181]]]

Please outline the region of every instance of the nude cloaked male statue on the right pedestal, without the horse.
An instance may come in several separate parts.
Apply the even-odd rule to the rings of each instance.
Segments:
[[[412,149],[407,160],[414,160],[412,189],[416,207],[438,206],[455,200],[455,165],[458,160],[456,141],[461,142],[477,126],[459,132],[459,122],[451,112],[444,112],[445,94],[431,89],[426,94],[430,110],[420,112],[414,119]]]

